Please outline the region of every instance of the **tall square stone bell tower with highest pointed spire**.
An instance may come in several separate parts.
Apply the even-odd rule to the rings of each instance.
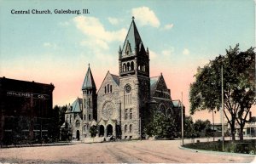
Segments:
[[[123,139],[139,139],[150,97],[149,53],[137,31],[134,17],[119,47],[119,97]],[[140,123],[141,122],[141,123]]]

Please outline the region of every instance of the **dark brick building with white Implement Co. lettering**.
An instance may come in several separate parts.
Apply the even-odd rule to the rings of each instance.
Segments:
[[[0,77],[0,142],[20,144],[49,137],[52,84]]]

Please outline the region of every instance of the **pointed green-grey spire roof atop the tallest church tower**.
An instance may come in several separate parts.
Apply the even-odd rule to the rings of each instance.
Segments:
[[[140,34],[137,31],[137,26],[135,25],[134,17],[132,17],[129,31],[127,33],[127,36],[125,37],[125,43],[122,49],[122,56],[125,55],[126,50],[129,50],[131,51],[131,53],[134,53],[135,48],[141,51],[142,49],[144,49],[144,46]]]

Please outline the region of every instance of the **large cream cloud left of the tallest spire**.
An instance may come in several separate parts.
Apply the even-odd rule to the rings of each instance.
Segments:
[[[86,47],[86,53],[80,54],[81,59],[97,60],[96,65],[100,67],[114,65],[118,54],[113,56],[114,51],[110,49],[110,44],[123,42],[127,30],[122,28],[117,31],[108,31],[98,18],[84,15],[73,18],[73,22],[77,29],[84,34],[84,39],[79,42],[79,45]],[[90,56],[89,59],[88,56]]]

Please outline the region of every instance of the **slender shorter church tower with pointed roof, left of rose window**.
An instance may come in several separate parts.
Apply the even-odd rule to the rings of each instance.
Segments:
[[[90,64],[88,65],[88,70],[84,77],[84,82],[82,86],[83,92],[83,112],[82,118],[84,122],[83,132],[84,135],[88,134],[89,122],[92,120],[97,120],[97,95],[96,95],[96,85],[90,71]]]

